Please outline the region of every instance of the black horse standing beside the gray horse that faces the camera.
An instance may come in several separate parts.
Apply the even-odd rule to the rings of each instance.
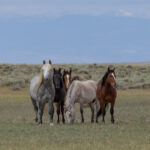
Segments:
[[[62,74],[61,74],[61,69],[56,70],[54,68],[54,86],[55,86],[55,99],[54,102],[57,103],[57,123],[59,123],[59,114],[61,111],[62,114],[62,122],[65,123],[65,118],[64,118],[64,101],[65,101],[65,96],[66,96],[66,91],[64,88],[64,83],[62,79]]]

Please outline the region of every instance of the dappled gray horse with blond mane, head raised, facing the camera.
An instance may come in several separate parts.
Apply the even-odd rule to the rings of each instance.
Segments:
[[[42,116],[44,106],[49,104],[50,125],[53,125],[54,106],[53,101],[55,97],[55,88],[53,83],[53,67],[51,61],[46,63],[43,61],[41,74],[35,76],[30,83],[30,97],[35,110],[35,122],[38,122],[39,110],[39,124],[42,124]]]

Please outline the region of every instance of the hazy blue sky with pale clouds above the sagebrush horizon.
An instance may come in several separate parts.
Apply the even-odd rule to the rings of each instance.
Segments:
[[[0,0],[0,63],[150,62],[149,0]]]

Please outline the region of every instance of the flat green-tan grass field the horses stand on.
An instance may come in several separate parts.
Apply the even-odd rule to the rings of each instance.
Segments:
[[[34,123],[34,111],[28,89],[12,91],[0,88],[0,150],[149,150],[150,90],[118,91],[115,124],[90,123],[86,108],[85,123],[80,123],[78,105],[74,125],[49,126],[47,108],[44,124]]]

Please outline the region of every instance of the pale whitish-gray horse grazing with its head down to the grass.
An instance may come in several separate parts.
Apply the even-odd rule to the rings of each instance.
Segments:
[[[94,103],[96,104],[96,112],[99,108],[98,100],[96,99],[96,89],[97,83],[95,81],[73,81],[68,89],[65,101],[65,113],[69,123],[73,123],[75,119],[75,103],[80,103],[81,121],[84,122],[83,107],[88,104],[92,112],[91,122],[94,122]]]

